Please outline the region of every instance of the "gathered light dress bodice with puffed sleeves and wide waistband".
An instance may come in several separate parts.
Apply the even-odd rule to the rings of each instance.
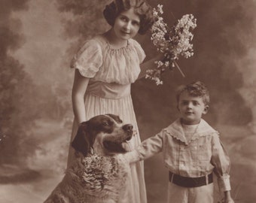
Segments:
[[[72,67],[90,77],[87,93],[106,98],[130,95],[130,84],[139,76],[145,52],[133,39],[126,47],[111,48],[104,35],[86,41],[73,59]]]

